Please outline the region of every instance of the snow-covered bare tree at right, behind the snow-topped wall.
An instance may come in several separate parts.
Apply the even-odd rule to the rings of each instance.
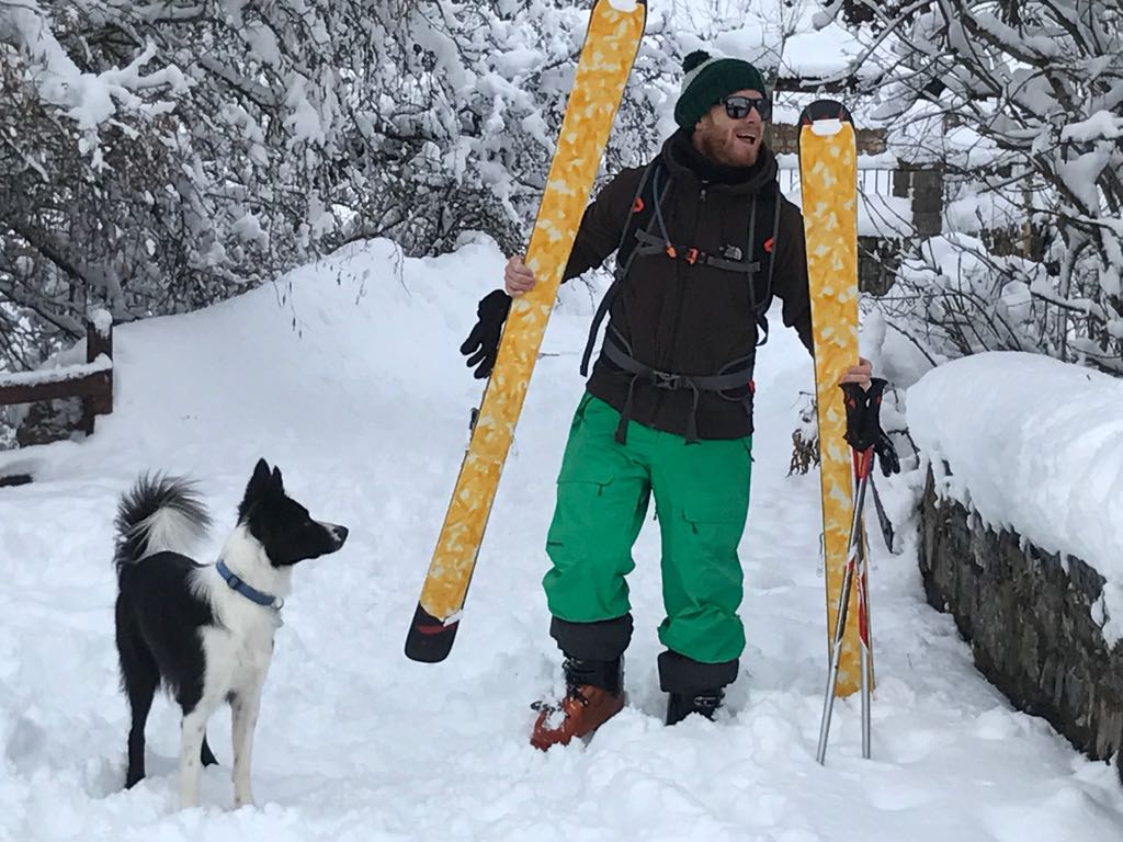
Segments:
[[[919,280],[925,339],[953,355],[1020,348],[1123,372],[1120,0],[844,6],[828,11],[868,26],[862,61],[884,64],[882,116],[947,162],[949,198],[969,195],[980,228],[1017,220],[1039,240],[1021,249],[1029,259],[969,237],[950,238],[942,259],[922,251],[904,278]]]

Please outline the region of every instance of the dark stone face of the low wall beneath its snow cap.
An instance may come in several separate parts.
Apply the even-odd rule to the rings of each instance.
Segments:
[[[1062,561],[939,500],[931,470],[920,524],[928,601],[955,616],[979,671],[1090,758],[1117,752],[1123,644],[1108,649],[1096,622],[1104,578],[1077,558]],[[1123,779],[1123,757],[1116,760]]]

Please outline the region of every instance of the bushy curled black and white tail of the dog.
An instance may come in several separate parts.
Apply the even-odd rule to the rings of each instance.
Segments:
[[[141,474],[117,504],[117,575],[154,552],[188,555],[206,538],[210,524],[194,483],[183,477]]]

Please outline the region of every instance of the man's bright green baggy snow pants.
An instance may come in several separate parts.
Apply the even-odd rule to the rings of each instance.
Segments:
[[[702,663],[731,661],[745,649],[737,546],[749,507],[752,439],[686,445],[632,422],[620,445],[619,421],[620,413],[590,394],[577,406],[546,543],[550,613],[570,623],[629,614],[626,576],[654,495],[666,611],[659,640]]]

